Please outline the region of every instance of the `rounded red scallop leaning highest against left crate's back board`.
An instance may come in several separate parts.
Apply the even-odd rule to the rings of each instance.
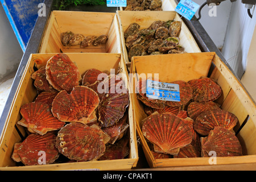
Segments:
[[[56,90],[71,92],[74,86],[79,85],[81,75],[65,53],[57,53],[47,61],[46,78]]]

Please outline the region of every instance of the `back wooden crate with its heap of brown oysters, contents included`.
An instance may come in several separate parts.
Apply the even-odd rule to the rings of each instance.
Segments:
[[[175,11],[117,11],[125,61],[133,56],[201,52]]]

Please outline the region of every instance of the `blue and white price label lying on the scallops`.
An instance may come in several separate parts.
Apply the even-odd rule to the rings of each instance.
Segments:
[[[147,80],[146,96],[158,100],[180,102],[179,84]]]

